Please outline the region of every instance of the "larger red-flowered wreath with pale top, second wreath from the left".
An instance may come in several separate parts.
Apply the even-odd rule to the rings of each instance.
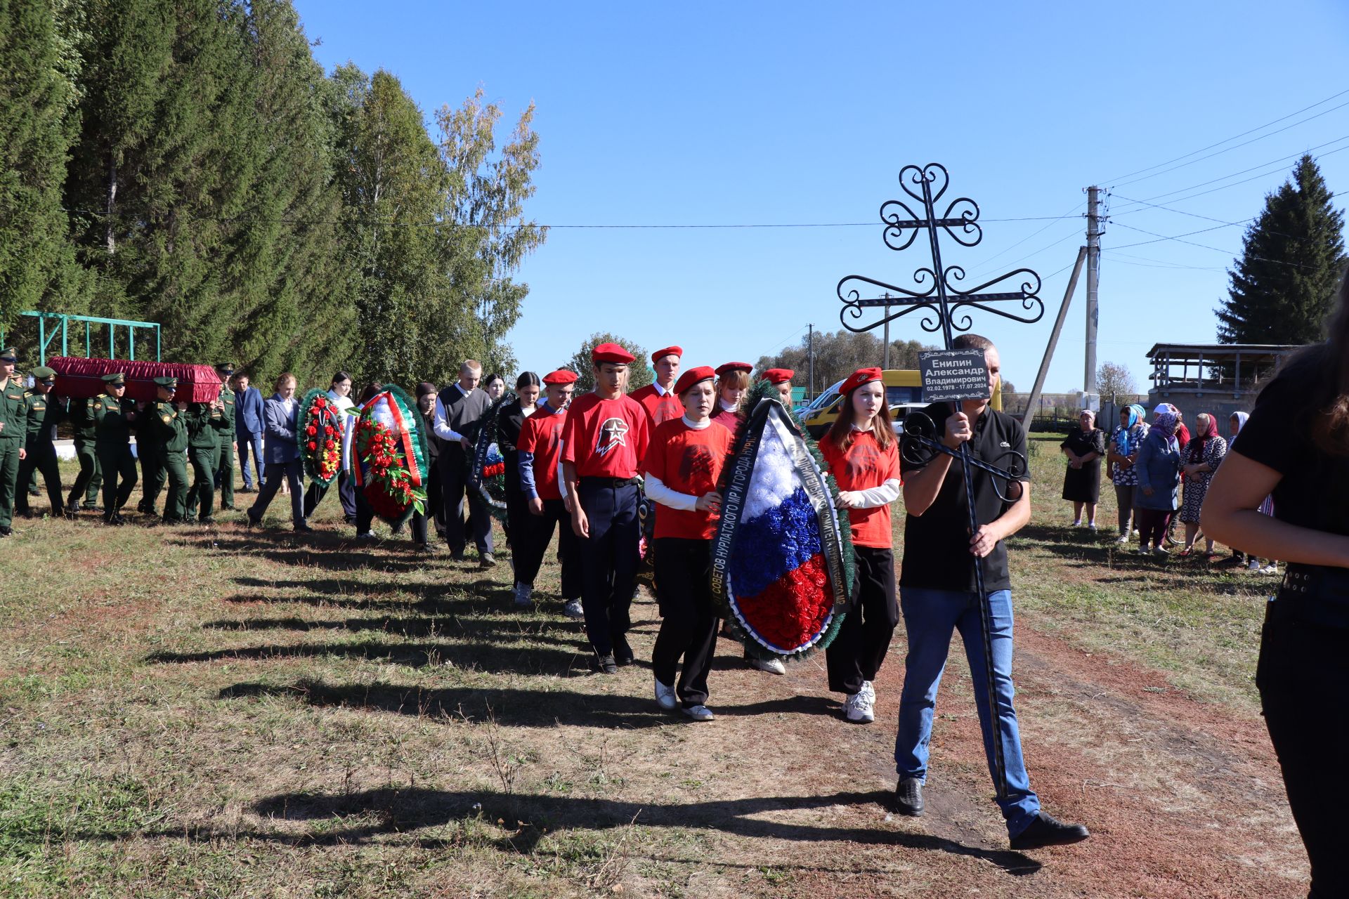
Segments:
[[[352,437],[356,487],[390,524],[426,509],[426,434],[417,407],[390,384],[360,407]]]

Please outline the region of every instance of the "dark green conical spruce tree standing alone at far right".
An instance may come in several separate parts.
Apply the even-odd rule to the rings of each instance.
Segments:
[[[1224,344],[1310,344],[1345,270],[1344,213],[1315,160],[1298,160],[1292,178],[1265,197],[1265,208],[1242,239],[1242,256],[1229,272],[1228,299],[1218,314]]]

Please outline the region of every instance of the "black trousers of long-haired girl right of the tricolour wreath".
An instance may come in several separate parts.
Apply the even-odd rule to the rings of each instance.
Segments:
[[[894,553],[873,546],[854,546],[857,581],[834,643],[824,650],[830,689],[857,693],[862,681],[874,681],[890,650],[890,638],[900,623],[900,605],[894,600]]]

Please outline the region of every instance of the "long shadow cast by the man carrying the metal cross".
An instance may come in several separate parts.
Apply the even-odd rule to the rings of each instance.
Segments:
[[[502,852],[533,853],[548,832],[607,830],[637,824],[643,828],[697,828],[741,837],[795,840],[803,842],[840,841],[863,845],[892,845],[923,852],[969,856],[997,865],[1010,875],[1029,875],[1040,863],[1020,852],[966,846],[921,833],[871,828],[828,828],[762,819],[774,811],[807,811],[831,806],[886,805],[888,793],[832,793],[816,797],[751,797],[689,803],[643,803],[616,799],[588,799],[538,794],[456,793],[447,790],[370,790],[345,795],[289,793],[262,799],[254,810],[266,818],[286,821],[340,821],[362,815],[375,822],[335,828],[322,834],[277,834],[283,842],[347,844],[382,834],[437,828],[459,821],[500,819],[514,822],[518,833],[495,841]],[[507,825],[509,826],[509,825]],[[452,841],[420,840],[424,848]]]

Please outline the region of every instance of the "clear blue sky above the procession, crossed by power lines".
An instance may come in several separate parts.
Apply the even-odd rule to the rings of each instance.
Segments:
[[[1349,193],[1349,150],[1330,152],[1349,148],[1349,105],[1333,109],[1349,94],[1207,151],[1228,150],[1221,155],[1122,183],[1349,89],[1349,5],[1340,0],[297,7],[329,70],[352,61],[394,73],[428,120],[479,85],[507,120],[534,101],[542,166],[527,212],[542,224],[869,222],[900,195],[904,164],[946,164],[952,191],[973,197],[986,222],[983,243],[948,261],[1059,272],[1045,279],[1040,323],[977,314],[974,330],[1000,344],[1021,390],[1085,222],[992,220],[1083,212],[1083,187],[1114,185],[1098,360],[1126,364],[1147,390],[1153,342],[1214,338],[1213,309],[1242,228],[1186,237],[1215,252],[1175,240],[1126,248],[1153,240],[1126,225],[1174,236],[1218,224],[1194,216],[1249,218],[1292,167],[1273,160],[1327,142],[1313,152],[1330,154],[1321,162],[1330,189]],[[1125,199],[1251,167],[1153,201],[1193,216]],[[681,344],[685,364],[753,363],[799,341],[808,322],[836,330],[843,275],[908,284],[924,264],[921,241],[893,252],[878,224],[558,228],[519,274],[530,295],[511,341],[521,364],[541,372],[598,330],[653,349]],[[1082,387],[1083,307],[1085,283],[1050,391]],[[931,340],[916,318],[892,337]]]

